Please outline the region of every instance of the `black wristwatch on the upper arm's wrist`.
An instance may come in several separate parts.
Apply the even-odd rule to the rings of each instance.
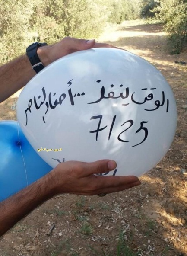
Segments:
[[[29,47],[26,49],[26,54],[32,65],[32,69],[35,70],[36,73],[40,72],[44,68],[44,64],[40,61],[37,54],[38,48],[44,45],[48,45],[48,44],[36,42],[36,43],[33,43],[32,45],[29,45]]]

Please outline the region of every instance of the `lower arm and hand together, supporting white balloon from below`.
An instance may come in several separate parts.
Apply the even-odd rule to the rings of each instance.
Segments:
[[[113,193],[140,184],[135,176],[100,176],[116,168],[111,160],[93,163],[67,161],[0,203],[0,236],[38,205],[57,194],[98,195]]]

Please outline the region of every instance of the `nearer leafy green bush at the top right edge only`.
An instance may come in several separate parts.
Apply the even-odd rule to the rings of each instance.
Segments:
[[[158,0],[158,18],[165,24],[171,54],[178,54],[187,43],[187,1]]]

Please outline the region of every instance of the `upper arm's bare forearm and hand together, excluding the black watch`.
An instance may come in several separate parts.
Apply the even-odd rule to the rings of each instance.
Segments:
[[[81,50],[94,47],[111,47],[108,44],[95,43],[95,40],[83,40],[76,38],[63,38],[54,45],[47,45],[38,48],[37,54],[40,61],[46,67],[57,59]],[[16,93],[35,76],[29,58],[23,55],[8,64],[0,67],[0,102]]]

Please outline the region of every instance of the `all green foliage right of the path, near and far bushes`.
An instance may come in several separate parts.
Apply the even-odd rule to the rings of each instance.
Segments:
[[[178,54],[187,43],[187,0],[140,0],[140,16],[157,18],[164,24],[171,54]]]

